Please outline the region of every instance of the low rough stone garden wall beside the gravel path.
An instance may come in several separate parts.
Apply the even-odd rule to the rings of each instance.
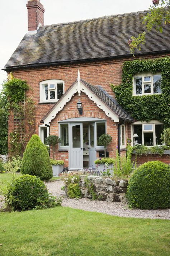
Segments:
[[[83,197],[91,198],[89,189],[86,186],[86,175],[80,176],[80,190]],[[128,186],[128,179],[111,179],[103,176],[89,175],[88,181],[93,184],[94,192],[105,201],[122,202]]]

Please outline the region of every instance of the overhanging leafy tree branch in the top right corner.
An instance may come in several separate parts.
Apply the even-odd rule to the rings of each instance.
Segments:
[[[166,25],[170,23],[170,0],[153,0],[152,2],[153,5],[150,6],[150,12],[147,13],[147,15],[142,16],[146,31],[140,33],[138,37],[132,36],[131,39],[129,39],[129,47],[133,55],[136,48],[141,50],[141,44],[145,44],[145,37],[148,31],[151,31],[155,26],[156,31],[162,33],[162,24]]]

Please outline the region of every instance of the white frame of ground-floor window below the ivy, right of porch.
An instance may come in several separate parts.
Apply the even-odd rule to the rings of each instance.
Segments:
[[[144,130],[144,125],[148,125],[148,124],[152,124],[152,128],[153,130]],[[153,142],[154,145],[153,146],[146,146],[146,147],[154,147],[156,146],[156,134],[155,134],[155,125],[164,125],[164,123],[161,123],[160,121],[156,121],[156,120],[151,120],[150,122],[146,122],[146,121],[138,121],[138,122],[134,122],[131,124],[131,145],[132,147],[133,145],[133,125],[142,125],[142,145],[144,145],[144,133],[153,133]]]

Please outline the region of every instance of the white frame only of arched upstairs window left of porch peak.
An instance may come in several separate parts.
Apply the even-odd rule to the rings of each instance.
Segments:
[[[49,79],[49,80],[44,80],[39,83],[39,95],[40,95],[40,103],[51,103],[51,102],[57,102],[57,84],[63,84],[63,94],[65,93],[65,85],[64,85],[64,80],[60,79]],[[55,84],[55,89],[54,88],[49,88],[50,84]],[[44,90],[44,85],[48,85],[48,99],[46,100],[46,95],[45,95],[45,90]],[[50,99],[50,92],[55,91],[55,99]]]

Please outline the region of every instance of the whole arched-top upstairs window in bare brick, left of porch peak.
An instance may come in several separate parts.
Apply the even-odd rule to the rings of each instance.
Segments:
[[[40,102],[57,102],[63,94],[63,80],[53,79],[40,82]]]

